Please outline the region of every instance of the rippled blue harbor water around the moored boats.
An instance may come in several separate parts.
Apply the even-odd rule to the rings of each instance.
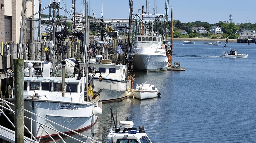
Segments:
[[[81,133],[110,143],[105,134],[114,128],[112,107],[117,124],[131,120],[134,127],[143,125],[153,143],[255,142],[256,44],[229,42],[224,51],[236,48],[248,58],[224,58],[224,42],[193,42],[173,41],[173,63],[180,62],[185,71],[135,72],[133,87],[151,83],[161,97],[104,103],[96,124]]]

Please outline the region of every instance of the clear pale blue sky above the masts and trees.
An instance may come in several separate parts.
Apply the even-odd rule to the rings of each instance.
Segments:
[[[35,0],[36,1],[36,0]],[[41,7],[49,5],[54,0],[41,0]],[[73,11],[72,0],[56,0],[60,1],[60,6],[66,7],[68,11]],[[76,0],[76,12],[83,12],[84,0]],[[164,14],[165,0],[147,0],[149,2],[149,14],[152,14],[153,8]],[[103,3],[103,6],[102,6]],[[88,12],[92,16],[92,10],[95,13],[95,18],[101,18],[103,9],[103,18],[129,18],[129,0],[88,0]],[[180,20],[181,23],[201,21],[209,24],[218,23],[219,21],[228,21],[232,14],[232,22],[237,23],[256,23],[254,6],[256,1],[242,0],[169,0],[168,17],[173,20]],[[146,0],[133,0],[133,13],[141,14],[142,5],[146,10]],[[148,8],[147,8],[148,9]],[[66,13],[60,12],[62,15]],[[49,9],[44,11],[44,14],[49,14]],[[67,14],[68,15],[68,14]],[[248,19],[248,20],[247,20]],[[171,19],[169,19],[171,20]]]

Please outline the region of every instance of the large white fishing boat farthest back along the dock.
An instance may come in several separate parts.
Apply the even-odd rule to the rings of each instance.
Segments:
[[[133,61],[133,69],[139,71],[167,70],[168,58],[162,37],[149,34],[134,36],[134,45],[129,57]]]

